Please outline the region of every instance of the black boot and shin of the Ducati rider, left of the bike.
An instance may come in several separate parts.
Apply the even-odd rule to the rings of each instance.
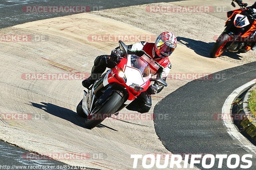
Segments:
[[[84,81],[82,81],[82,85],[89,89],[89,87],[100,78],[101,74],[106,70],[106,68],[98,65],[92,67],[92,74],[90,77],[86,78]]]

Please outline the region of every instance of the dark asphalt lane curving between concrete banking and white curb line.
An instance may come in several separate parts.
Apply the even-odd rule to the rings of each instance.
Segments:
[[[154,123],[164,146],[174,154],[253,154],[230,137],[222,120],[215,120],[214,115],[221,113],[226,98],[236,88],[255,78],[255,65],[252,62],[216,72],[211,80],[191,81],[161,100],[154,113],[165,116]],[[256,169],[255,162],[253,154],[250,169]],[[228,169],[225,165],[223,162],[223,169]],[[218,169],[216,166],[213,169]]]

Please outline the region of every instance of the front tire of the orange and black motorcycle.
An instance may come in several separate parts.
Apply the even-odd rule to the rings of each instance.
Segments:
[[[228,34],[224,33],[220,35],[217,42],[214,44],[214,46],[211,49],[210,55],[212,58],[217,58],[226,50],[225,45],[227,44],[228,39],[229,39]]]

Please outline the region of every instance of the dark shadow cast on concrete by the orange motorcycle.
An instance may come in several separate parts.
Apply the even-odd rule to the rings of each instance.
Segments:
[[[177,37],[177,40],[179,41],[180,44],[183,44],[183,45],[187,46],[188,48],[194,50],[196,54],[211,58],[210,50],[212,49],[215,42],[208,43],[208,42],[197,41],[197,40],[193,40],[193,39],[185,38],[185,37]],[[227,51],[225,51],[222,55],[226,55],[226,56],[236,59],[236,60],[241,60],[240,57],[242,57],[242,56],[240,56],[238,54],[237,53],[228,53]]]

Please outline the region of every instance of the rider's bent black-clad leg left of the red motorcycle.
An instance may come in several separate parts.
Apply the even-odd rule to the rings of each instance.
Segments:
[[[106,68],[115,67],[113,63],[109,62],[109,55],[100,55],[94,60],[94,65],[92,67],[92,74],[89,78],[82,81],[82,85],[85,88],[89,88],[96,80],[98,80],[101,74],[106,70]]]

